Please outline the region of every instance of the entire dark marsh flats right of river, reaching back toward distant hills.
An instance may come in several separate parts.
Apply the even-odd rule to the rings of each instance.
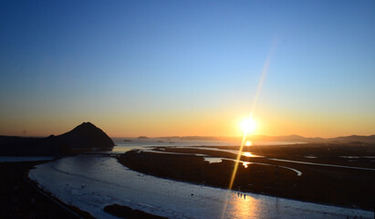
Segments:
[[[228,159],[236,158],[235,154],[225,151],[173,147],[155,148],[154,150],[199,153]],[[361,157],[370,155],[372,157],[372,147],[359,146],[355,148],[353,146],[348,148],[348,145],[305,144],[246,148],[246,151],[251,150],[257,150],[257,154],[266,155],[266,157],[241,156],[241,161],[271,165],[253,163],[245,167],[242,163],[239,163],[233,186],[234,190],[374,210],[375,171],[271,160],[272,158],[278,158],[375,169],[375,162],[371,162],[375,158]],[[349,154],[357,157],[345,157]],[[306,158],[305,156],[313,158]],[[228,188],[234,170],[233,161],[224,160],[209,163],[205,162],[203,157],[192,154],[129,151],[120,156],[119,162],[138,172],[221,188]],[[301,176],[297,176],[296,172],[281,166],[293,168],[303,173]]]

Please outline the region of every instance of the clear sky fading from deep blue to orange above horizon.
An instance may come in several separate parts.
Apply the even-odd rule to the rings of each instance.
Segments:
[[[375,134],[375,1],[0,1],[0,134]]]

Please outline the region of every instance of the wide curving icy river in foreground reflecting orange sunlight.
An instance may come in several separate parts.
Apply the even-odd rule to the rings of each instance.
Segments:
[[[373,213],[181,183],[133,172],[109,157],[68,157],[36,166],[29,177],[64,203],[116,218],[119,203],[169,218],[372,218]]]

